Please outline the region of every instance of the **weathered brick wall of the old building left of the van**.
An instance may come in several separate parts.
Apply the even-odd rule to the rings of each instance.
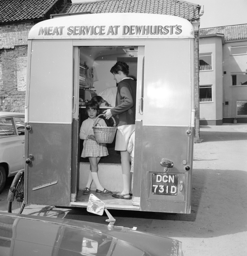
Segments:
[[[57,0],[42,17],[62,11],[70,0]],[[20,21],[0,24],[0,111],[24,113],[28,33],[39,22]]]

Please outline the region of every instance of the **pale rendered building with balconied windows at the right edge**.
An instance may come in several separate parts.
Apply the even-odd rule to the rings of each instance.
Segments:
[[[247,24],[199,30],[200,124],[247,123]]]

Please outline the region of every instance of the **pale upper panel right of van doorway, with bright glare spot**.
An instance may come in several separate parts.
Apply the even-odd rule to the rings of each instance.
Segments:
[[[143,125],[189,125],[189,56],[189,39],[146,39]]]

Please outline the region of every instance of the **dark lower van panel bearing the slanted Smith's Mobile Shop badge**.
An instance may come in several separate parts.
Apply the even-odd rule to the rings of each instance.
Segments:
[[[28,204],[69,206],[71,182],[71,125],[31,124]],[[41,187],[58,181],[56,184]]]

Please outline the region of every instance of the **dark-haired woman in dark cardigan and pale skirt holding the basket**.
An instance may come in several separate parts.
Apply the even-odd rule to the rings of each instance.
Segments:
[[[115,198],[131,199],[130,197],[130,154],[126,150],[129,138],[135,131],[136,116],[136,82],[128,77],[129,66],[125,62],[117,62],[110,70],[118,83],[116,107],[104,111],[106,119],[116,117],[117,135],[115,150],[121,153],[121,166],[124,188],[122,192],[113,194]]]

